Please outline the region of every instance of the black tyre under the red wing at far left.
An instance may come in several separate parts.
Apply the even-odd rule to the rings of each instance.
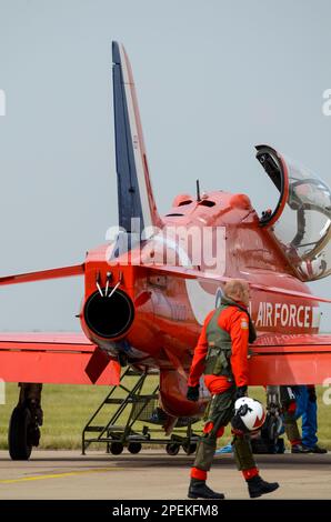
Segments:
[[[16,406],[10,418],[8,433],[9,454],[14,461],[27,461],[31,455],[31,424],[30,410],[28,408]]]

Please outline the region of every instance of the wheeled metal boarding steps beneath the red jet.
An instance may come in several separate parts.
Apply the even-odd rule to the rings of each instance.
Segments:
[[[180,448],[187,454],[195,451],[199,435],[193,433],[192,424],[198,419],[180,418],[171,435],[164,435],[162,424],[167,415],[158,405],[157,375],[156,372],[137,371],[130,367],[123,371],[119,385],[110,389],[82,431],[83,455],[92,443],[104,443],[107,453],[114,455],[121,454],[124,448],[130,453],[139,453],[142,444],[163,445],[171,455],[178,454]],[[146,388],[151,392],[142,393]]]

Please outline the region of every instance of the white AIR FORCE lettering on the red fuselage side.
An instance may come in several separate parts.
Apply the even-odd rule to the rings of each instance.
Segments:
[[[255,318],[255,327],[314,328],[318,327],[315,324],[315,312],[318,312],[315,307],[261,301]]]

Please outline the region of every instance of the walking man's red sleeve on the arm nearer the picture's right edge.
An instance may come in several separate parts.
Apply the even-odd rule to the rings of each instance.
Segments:
[[[232,340],[231,368],[237,387],[248,384],[248,342],[249,320],[244,312],[233,313],[230,318],[229,333]]]

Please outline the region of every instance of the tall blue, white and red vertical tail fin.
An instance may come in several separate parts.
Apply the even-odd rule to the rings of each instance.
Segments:
[[[151,188],[147,153],[131,66],[122,44],[112,42],[116,161],[119,225],[131,231],[131,219],[140,227],[160,227]]]

